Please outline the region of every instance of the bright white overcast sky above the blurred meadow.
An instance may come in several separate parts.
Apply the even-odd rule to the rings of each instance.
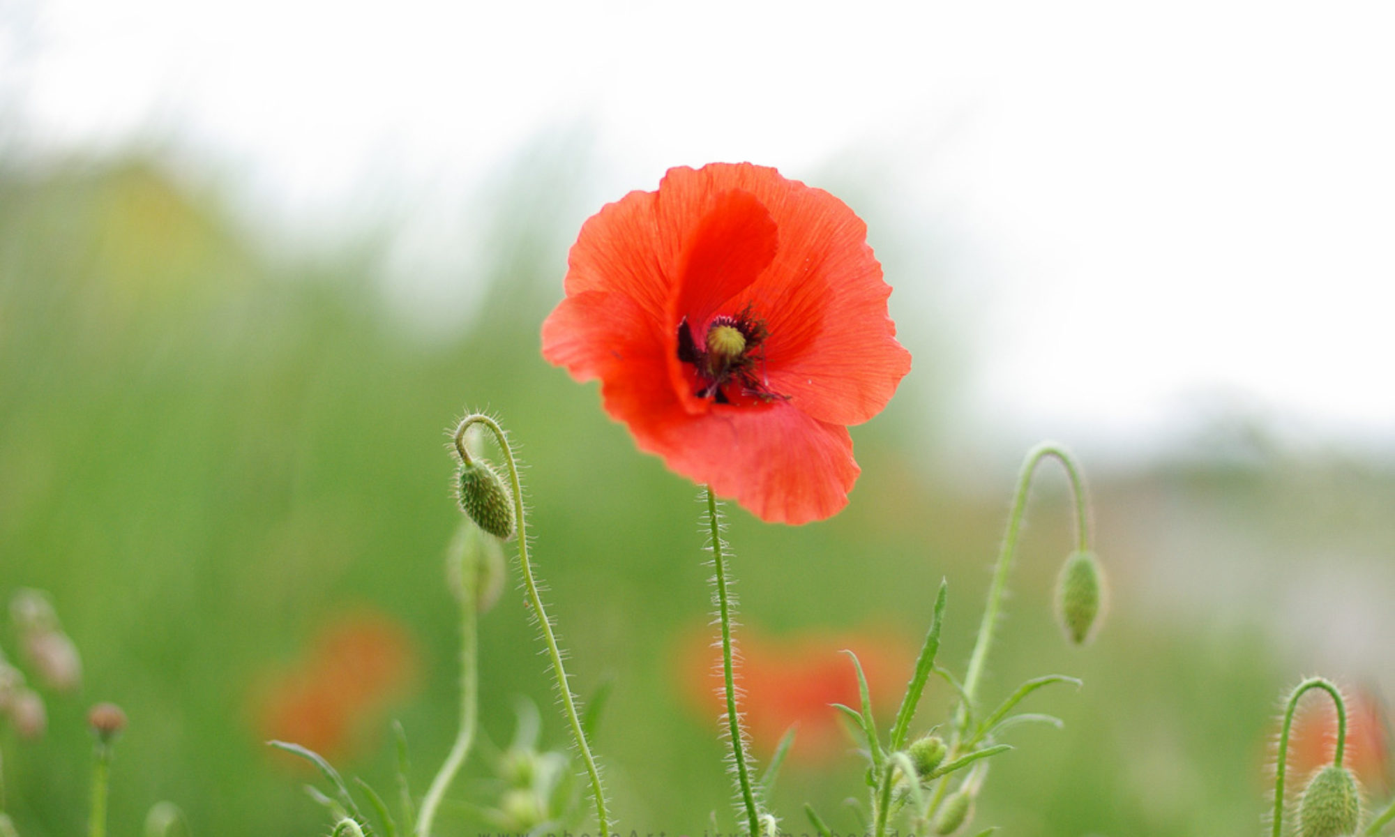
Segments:
[[[597,199],[710,160],[819,184],[861,152],[866,191],[949,248],[889,276],[912,350],[919,308],[971,308],[963,427],[1151,446],[1219,393],[1395,445],[1387,1],[0,10],[0,91],[33,141],[172,127],[278,223],[333,225],[385,172],[469,190],[558,126],[593,131]],[[459,252],[456,218],[403,241]]]

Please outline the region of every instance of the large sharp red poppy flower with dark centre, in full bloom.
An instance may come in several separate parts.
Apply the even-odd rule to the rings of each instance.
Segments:
[[[543,356],[600,378],[642,451],[763,520],[847,505],[848,424],[911,368],[843,201],[774,169],[670,169],[586,222]]]

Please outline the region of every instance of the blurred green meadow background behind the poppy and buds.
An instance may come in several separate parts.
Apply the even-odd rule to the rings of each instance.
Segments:
[[[388,229],[345,236],[329,257],[290,251],[250,239],[216,188],[174,177],[156,152],[0,160],[0,597],[49,591],[85,665],[80,693],[46,695],[46,737],[0,732],[22,834],[84,829],[84,716],[96,700],[130,716],[113,833],[138,833],[159,799],[183,806],[195,834],[324,833],[301,791],[314,776],[262,744],[265,704],[276,684],[324,674],[326,631],[361,614],[396,633],[364,651],[384,656],[382,696],[332,737],[336,762],[391,788],[399,718],[424,790],[456,723],[444,555],[459,512],[445,431],[470,409],[494,412],[520,445],[536,558],[578,691],[614,684],[596,748],[622,831],[702,831],[713,812],[732,823],[716,711],[692,698],[709,600],[696,488],[635,451],[594,385],[541,360],[573,219],[594,208],[573,205],[565,165],[518,170],[478,219],[487,258],[469,269],[487,290],[473,321],[423,333],[375,279]],[[876,225],[889,212],[840,194],[870,219],[894,286],[897,241]],[[912,347],[926,345],[911,329],[933,324],[898,319]],[[731,511],[742,621],[764,647],[862,636],[908,663],[897,654],[918,643],[943,576],[942,660],[963,671],[1024,451],[954,465],[954,438],[933,421],[960,374],[946,333],[946,352],[918,352],[897,399],[854,430],[864,473],[844,513],[790,529]],[[1018,749],[997,757],[976,823],[1254,833],[1281,691],[1310,672],[1395,686],[1395,474],[1295,452],[1243,417],[1168,458],[1083,466],[1108,622],[1084,650],[1053,624],[1070,512],[1064,480],[1045,469],[986,695],[1048,672],[1085,688],[1034,699],[1066,728],[1013,734]],[[481,624],[483,732],[506,742],[527,696],[545,744],[562,746],[515,580]],[[14,638],[6,621],[11,658]],[[883,703],[904,677],[889,677]],[[815,689],[798,671],[784,688]],[[917,728],[947,706],[932,684]],[[757,742],[757,757],[769,746]],[[456,799],[492,802],[488,752]],[[845,797],[864,797],[858,760],[834,748],[797,753],[774,804],[797,833],[805,801],[850,830]],[[465,805],[442,822],[485,830]]]

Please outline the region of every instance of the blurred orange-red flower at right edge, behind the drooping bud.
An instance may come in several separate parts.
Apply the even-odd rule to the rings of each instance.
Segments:
[[[1343,692],[1346,692],[1343,689]],[[1366,787],[1384,798],[1395,790],[1391,778],[1389,727],[1381,700],[1362,689],[1346,695],[1346,753],[1343,760]],[[1332,763],[1336,751],[1336,707],[1331,700],[1304,700],[1289,734],[1289,776],[1307,777]]]

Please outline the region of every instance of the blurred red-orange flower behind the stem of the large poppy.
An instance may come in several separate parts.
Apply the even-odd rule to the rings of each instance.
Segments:
[[[692,649],[679,654],[684,686],[703,711],[720,714],[725,710],[721,649],[711,646],[710,629],[688,642]],[[903,639],[861,633],[777,640],[746,629],[737,677],[745,692],[739,707],[757,756],[769,757],[792,725],[799,727],[791,749],[797,760],[819,762],[855,746],[831,706],[857,709],[859,703],[857,670],[844,649],[862,663],[873,709],[889,717],[911,675],[912,656]]]

